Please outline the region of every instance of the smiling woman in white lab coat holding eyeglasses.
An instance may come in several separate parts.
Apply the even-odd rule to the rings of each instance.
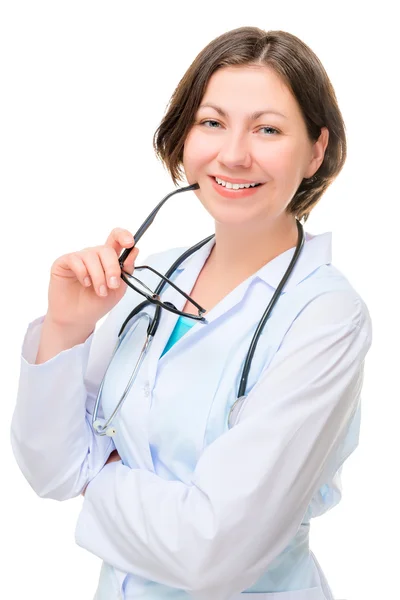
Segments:
[[[99,435],[147,330],[146,317],[131,315],[100,390],[121,325],[143,301],[125,283],[138,249],[116,229],[105,245],[58,258],[47,314],[24,341],[16,460],[39,496],[84,495],[76,541],[103,559],[97,600],[332,600],[310,520],[340,500],[371,345],[367,307],[331,264],[330,234],[301,244],[300,221],[346,158],[332,85],[295,36],[229,31],[180,81],[154,145],[174,184],[183,172],[197,183],[215,221],[215,237],[171,275],[188,297],[161,293],[185,314],[196,302],[204,318],[164,304],[116,433]],[[181,254],[146,263],[166,274]],[[154,290],[153,271],[136,275]],[[141,314],[152,317],[154,304]],[[235,404],[238,389],[246,398]]]

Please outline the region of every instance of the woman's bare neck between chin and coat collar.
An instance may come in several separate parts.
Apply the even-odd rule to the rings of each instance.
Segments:
[[[244,280],[268,262],[296,246],[298,231],[293,215],[262,223],[257,228],[215,223],[215,245],[208,267],[218,278]]]

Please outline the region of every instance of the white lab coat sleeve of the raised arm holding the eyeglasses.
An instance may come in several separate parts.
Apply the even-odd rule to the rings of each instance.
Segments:
[[[162,253],[151,255],[145,264],[157,268],[159,257]],[[84,343],[38,365],[44,317],[30,323],[22,346],[11,446],[22,474],[40,497],[79,496],[114,450],[112,438],[93,431],[92,414],[119,329],[143,299],[128,288]]]

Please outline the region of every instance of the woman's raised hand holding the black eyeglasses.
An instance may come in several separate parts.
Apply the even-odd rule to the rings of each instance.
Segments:
[[[90,331],[123,297],[119,255],[134,245],[126,229],[113,229],[103,246],[65,254],[51,267],[46,319],[65,329]],[[132,273],[139,250],[134,248],[124,263]]]

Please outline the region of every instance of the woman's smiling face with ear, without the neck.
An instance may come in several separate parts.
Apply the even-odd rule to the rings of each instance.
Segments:
[[[302,179],[319,168],[327,141],[326,128],[317,143],[309,140],[297,101],[272,69],[225,67],[210,78],[185,141],[183,167],[216,222],[260,225],[287,218],[287,205]],[[227,189],[215,177],[262,185]]]

